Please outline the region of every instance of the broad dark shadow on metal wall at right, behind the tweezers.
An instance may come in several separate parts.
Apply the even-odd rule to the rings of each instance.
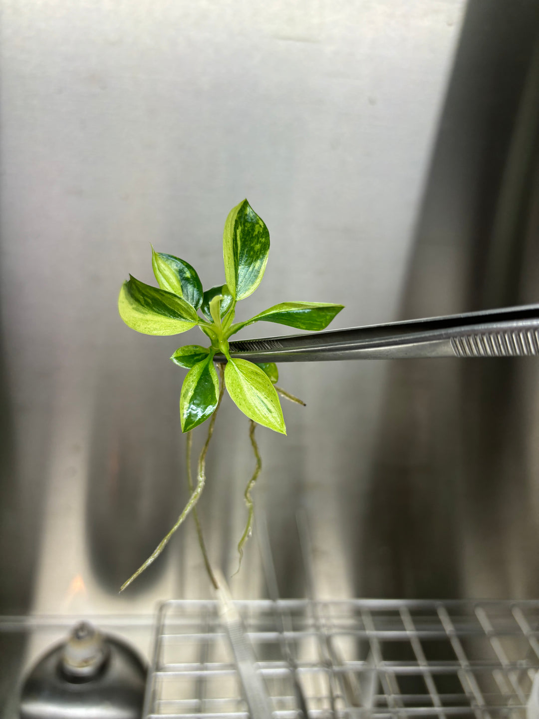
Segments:
[[[533,1],[469,2],[402,319],[539,301],[538,29]],[[538,596],[526,439],[538,383],[534,358],[392,363],[362,595]]]

